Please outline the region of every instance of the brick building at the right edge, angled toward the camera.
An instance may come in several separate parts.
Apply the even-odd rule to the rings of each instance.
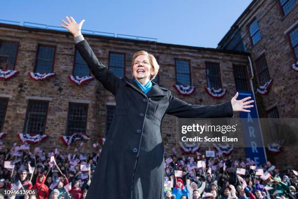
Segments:
[[[218,44],[251,54],[254,89],[272,79],[267,95],[256,92],[260,118],[298,118],[298,1],[253,0]],[[296,146],[268,154],[280,166],[298,165]],[[280,161],[282,159],[283,161]]]

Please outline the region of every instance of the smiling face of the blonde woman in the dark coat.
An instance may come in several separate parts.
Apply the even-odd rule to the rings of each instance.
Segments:
[[[154,72],[147,55],[139,55],[134,60],[132,73],[133,77],[135,77],[137,80],[150,80],[150,76],[154,75]]]

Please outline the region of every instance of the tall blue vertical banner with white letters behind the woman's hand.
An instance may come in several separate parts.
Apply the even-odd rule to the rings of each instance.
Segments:
[[[257,165],[266,163],[266,154],[265,149],[263,146],[263,139],[261,133],[261,127],[257,108],[256,108],[256,100],[254,99],[254,95],[252,91],[239,91],[237,100],[251,97],[250,100],[254,100],[253,105],[254,107],[250,108],[250,113],[240,112],[240,118],[242,122],[242,130],[244,134],[244,144],[246,152],[246,158],[254,160]]]

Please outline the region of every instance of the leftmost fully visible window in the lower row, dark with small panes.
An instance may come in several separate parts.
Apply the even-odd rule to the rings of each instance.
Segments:
[[[42,135],[45,130],[47,110],[48,102],[29,101],[23,133]]]

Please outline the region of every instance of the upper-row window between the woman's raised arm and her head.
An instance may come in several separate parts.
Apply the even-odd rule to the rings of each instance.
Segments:
[[[125,59],[123,54],[110,53],[109,70],[118,78],[124,77]]]

